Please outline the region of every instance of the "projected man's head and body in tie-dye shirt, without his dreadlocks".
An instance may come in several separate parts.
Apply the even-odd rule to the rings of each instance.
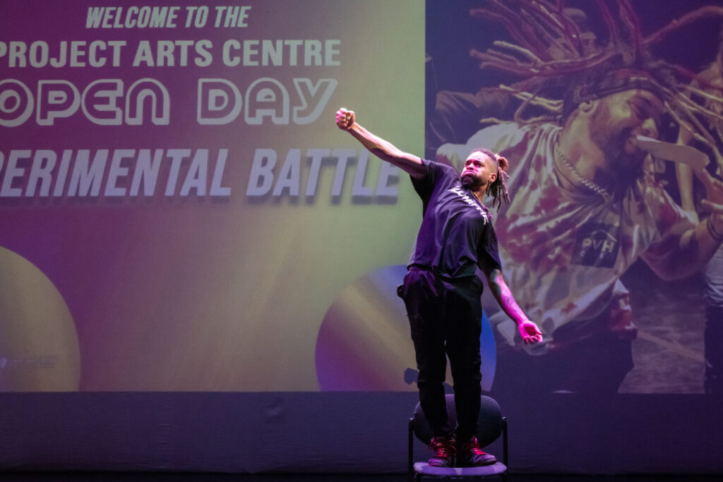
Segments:
[[[521,303],[542,320],[547,339],[531,353],[516,349],[502,314],[491,314],[509,339],[498,348],[498,395],[617,392],[633,368],[636,337],[620,275],[638,257],[664,279],[693,275],[721,241],[722,216],[696,227],[643,173],[646,152],[636,136],[657,137],[664,111],[654,79],[619,69],[578,92],[565,104],[562,126],[501,123],[466,145],[440,147],[453,164],[478,142],[519,153],[510,184],[517,195],[495,226],[505,240],[505,274],[521,287]],[[720,192],[711,184],[711,200],[719,202]],[[523,386],[505,379],[512,373],[526,377]]]

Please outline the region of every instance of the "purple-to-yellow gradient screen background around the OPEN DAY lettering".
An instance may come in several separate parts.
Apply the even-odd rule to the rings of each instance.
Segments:
[[[215,2],[226,5],[223,2]],[[195,5],[197,2],[161,2]],[[245,28],[85,29],[86,4],[57,1],[9,1],[0,6],[0,41],[126,40],[121,66],[52,68],[7,67],[2,79],[20,79],[33,95],[41,79],[64,79],[80,90],[97,79],[122,79],[124,89],[137,79],[157,79],[171,97],[167,126],[98,126],[79,110],[53,126],[38,126],[35,115],[22,126],[0,127],[0,151],[49,149],[209,149],[208,181],[218,149],[228,149],[222,186],[230,197],[179,197],[189,160],[181,165],[176,196],[166,197],[170,162],[164,160],[153,197],[0,198],[0,246],[35,264],[61,293],[75,321],[80,342],[80,390],[317,390],[314,346],[325,309],[343,285],[377,263],[402,262],[411,244],[406,220],[388,236],[367,244],[369,253],[335,270],[348,252],[367,237],[367,225],[400,225],[416,212],[414,199],[401,205],[351,205],[329,196],[332,173],[322,172],[315,199],[245,197],[254,150],[273,148],[278,169],[287,150],[354,147],[331,119],[349,102],[361,106],[365,88],[380,92],[364,108],[402,145],[422,151],[423,4],[390,6],[382,1],[249,1]],[[98,1],[93,6],[116,7]],[[155,3],[153,4],[156,5]],[[213,6],[212,6],[213,7]],[[378,19],[380,9],[388,18]],[[184,15],[179,16],[183,25]],[[353,22],[321,22],[321,18]],[[390,25],[406,21],[415,33],[400,38]],[[211,23],[213,20],[210,20]],[[379,35],[366,45],[375,29]],[[221,62],[224,40],[342,39],[341,66],[227,67]],[[214,43],[208,67],[132,67],[139,40],[200,40]],[[411,48],[410,46],[417,47]],[[419,51],[419,61],[409,52]],[[416,64],[416,81],[386,88],[370,66],[380,59],[398,62],[400,72]],[[189,63],[192,55],[189,54]],[[242,95],[260,77],[283,83],[292,79],[338,79],[339,86],[319,120],[308,125],[247,125],[243,113],[231,124],[202,126],[196,121],[199,78],[228,79]],[[367,95],[368,97],[368,95]],[[419,99],[410,106],[406,99]],[[393,100],[394,99],[394,100]],[[387,126],[384,113],[405,106],[414,122]],[[412,149],[413,147],[408,147]],[[31,161],[19,165],[29,168]],[[110,160],[108,160],[110,163]],[[4,174],[4,171],[0,171]],[[302,173],[301,192],[305,186]],[[17,180],[16,180],[17,181]],[[68,181],[66,181],[68,182]],[[351,183],[346,180],[345,186]],[[17,184],[17,183],[16,183]],[[129,178],[127,178],[129,185]],[[122,181],[119,186],[123,186]],[[403,189],[408,189],[404,186]],[[402,194],[400,199],[409,198]],[[341,234],[340,234],[341,233]],[[395,246],[382,254],[382,246]],[[313,283],[309,283],[313,280]]]

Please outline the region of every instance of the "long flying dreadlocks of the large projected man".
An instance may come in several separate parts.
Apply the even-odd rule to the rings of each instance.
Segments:
[[[607,27],[607,44],[591,46],[583,40],[585,32],[565,12],[564,1],[488,0],[486,7],[472,9],[471,16],[505,25],[512,41],[496,41],[493,48],[473,50],[471,56],[480,61],[482,69],[522,78],[495,89],[521,100],[514,114],[518,124],[560,122],[586,98],[610,93],[611,82],[621,79],[620,75],[615,78],[615,71],[630,69],[637,77],[646,77],[646,88],[659,95],[677,124],[709,147],[723,170],[723,155],[706,127],[723,121],[723,116],[711,108],[711,104],[723,105],[723,92],[684,66],[654,59],[650,53],[652,47],[686,25],[711,17],[723,19],[723,7],[701,7],[644,36],[630,0],[617,0],[616,4],[617,15],[609,2],[594,2]],[[691,80],[695,81],[692,85]],[[560,95],[559,87],[570,84],[572,88]],[[624,86],[625,82],[618,82],[620,90]],[[531,106],[544,113],[525,119],[523,113]],[[481,122],[499,123],[500,119]]]

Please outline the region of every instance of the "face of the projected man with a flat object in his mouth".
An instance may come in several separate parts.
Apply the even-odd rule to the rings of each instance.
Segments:
[[[591,138],[610,160],[624,163],[621,167],[638,168],[646,152],[633,145],[631,139],[638,135],[658,137],[664,109],[662,100],[648,90],[606,95],[597,101],[592,112]]]

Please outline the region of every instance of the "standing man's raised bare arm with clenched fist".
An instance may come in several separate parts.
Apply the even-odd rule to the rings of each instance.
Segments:
[[[336,111],[336,126],[356,137],[356,139],[358,139],[364,147],[367,147],[369,152],[376,155],[377,158],[396,165],[413,178],[421,179],[427,172],[422,163],[422,159],[416,157],[416,155],[399,150],[390,142],[375,136],[375,134],[367,131],[364,127],[356,124],[354,111],[348,111],[345,108]]]

